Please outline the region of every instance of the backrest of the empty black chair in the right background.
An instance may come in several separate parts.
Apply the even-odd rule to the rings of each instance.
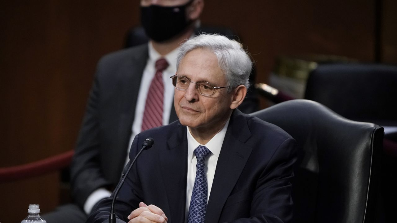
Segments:
[[[304,98],[348,119],[397,126],[397,66],[319,65],[309,75]]]

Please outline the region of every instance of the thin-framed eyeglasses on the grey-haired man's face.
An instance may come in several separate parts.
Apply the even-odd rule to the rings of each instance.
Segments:
[[[179,75],[173,75],[170,78],[172,78],[172,85],[178,89],[178,90],[186,90],[190,83],[196,84],[196,88],[198,93],[204,96],[212,96],[215,93],[215,89],[220,89],[220,88],[228,88],[227,87],[214,87],[211,83],[205,82],[205,81],[198,81],[198,82],[193,82],[187,77],[179,76]]]

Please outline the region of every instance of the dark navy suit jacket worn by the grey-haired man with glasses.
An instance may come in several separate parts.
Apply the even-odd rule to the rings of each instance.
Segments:
[[[123,221],[139,202],[154,204],[168,223],[185,221],[187,128],[179,121],[137,135],[129,154],[133,160],[143,141],[154,145],[142,152],[116,200]],[[289,222],[296,142],[279,127],[233,111],[216,166],[206,223]],[[99,203],[88,222],[107,222],[112,199]],[[119,222],[123,222],[118,219]]]

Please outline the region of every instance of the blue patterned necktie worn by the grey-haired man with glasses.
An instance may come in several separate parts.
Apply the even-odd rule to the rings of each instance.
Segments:
[[[197,146],[194,152],[197,158],[197,171],[187,223],[204,223],[208,197],[208,183],[207,175],[204,171],[204,160],[211,154],[211,151],[205,146]]]

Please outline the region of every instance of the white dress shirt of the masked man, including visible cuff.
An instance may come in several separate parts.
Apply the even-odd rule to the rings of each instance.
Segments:
[[[170,121],[170,113],[171,113],[171,108],[173,103],[173,93],[174,93],[174,87],[172,85],[172,80],[170,79],[170,77],[172,75],[175,75],[176,73],[177,53],[178,53],[178,48],[176,48],[166,56],[163,56],[169,64],[167,69],[163,71],[163,83],[164,83],[163,125],[168,125]],[[148,54],[149,54],[149,58],[146,63],[146,67],[143,70],[141,85],[139,87],[137,104],[135,106],[135,117],[134,117],[134,122],[132,124],[132,134],[129,140],[127,154],[129,154],[129,149],[131,147],[132,141],[135,138],[135,135],[141,132],[143,112],[145,111],[146,97],[149,91],[150,83],[152,82],[154,74],[156,73],[155,64],[156,61],[162,57],[153,48],[151,41],[148,43]],[[127,156],[125,163],[127,163],[128,161],[129,158]],[[93,206],[99,200],[101,200],[102,198],[108,198],[110,197],[111,194],[112,193],[106,190],[105,188],[98,188],[97,190],[94,190],[94,192],[90,194],[90,196],[87,198],[84,204],[85,213],[89,214]]]

